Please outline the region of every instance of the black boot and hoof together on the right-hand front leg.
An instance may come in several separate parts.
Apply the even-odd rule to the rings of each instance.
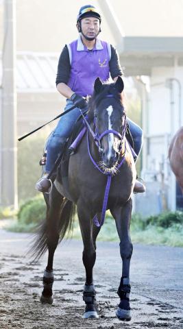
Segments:
[[[132,319],[130,313],[130,289],[129,278],[121,278],[117,292],[121,301],[116,311],[116,315],[121,321],[130,321]]]

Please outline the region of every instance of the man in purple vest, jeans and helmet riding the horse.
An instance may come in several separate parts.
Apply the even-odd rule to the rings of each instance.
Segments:
[[[47,178],[58,154],[62,154],[66,139],[70,136],[73,125],[80,117],[80,109],[87,109],[86,96],[92,95],[97,77],[106,81],[112,77],[114,82],[123,75],[116,49],[97,36],[101,32],[101,15],[93,5],[84,5],[77,16],[79,37],[69,45],[65,45],[58,62],[56,86],[61,95],[66,97],[69,110],[76,107],[60,119],[47,143],[47,161],[45,173],[36,183],[40,192],[48,192],[51,181]],[[132,120],[127,119],[134,140],[136,155],[141,151],[143,131]],[[145,191],[145,186],[136,180],[135,193]]]

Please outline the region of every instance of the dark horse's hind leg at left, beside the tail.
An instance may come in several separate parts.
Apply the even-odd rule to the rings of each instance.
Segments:
[[[43,276],[43,291],[40,297],[40,302],[52,304],[53,303],[53,256],[59,241],[59,222],[60,209],[63,197],[58,193],[56,187],[53,186],[51,195],[49,197],[49,207],[47,208],[47,229],[46,239],[48,248],[48,262]]]

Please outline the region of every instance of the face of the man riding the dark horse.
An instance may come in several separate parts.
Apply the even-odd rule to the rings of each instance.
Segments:
[[[100,22],[95,17],[86,17],[81,21],[82,32],[88,38],[96,38],[99,34]]]

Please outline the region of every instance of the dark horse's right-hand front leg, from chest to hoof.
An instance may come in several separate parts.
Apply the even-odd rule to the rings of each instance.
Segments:
[[[120,304],[117,308],[117,317],[120,320],[129,321],[130,315],[130,259],[133,245],[130,239],[130,219],[132,215],[132,199],[125,206],[110,209],[112,216],[116,220],[117,231],[120,239],[120,254],[123,260],[121,282],[119,284],[118,295]]]

